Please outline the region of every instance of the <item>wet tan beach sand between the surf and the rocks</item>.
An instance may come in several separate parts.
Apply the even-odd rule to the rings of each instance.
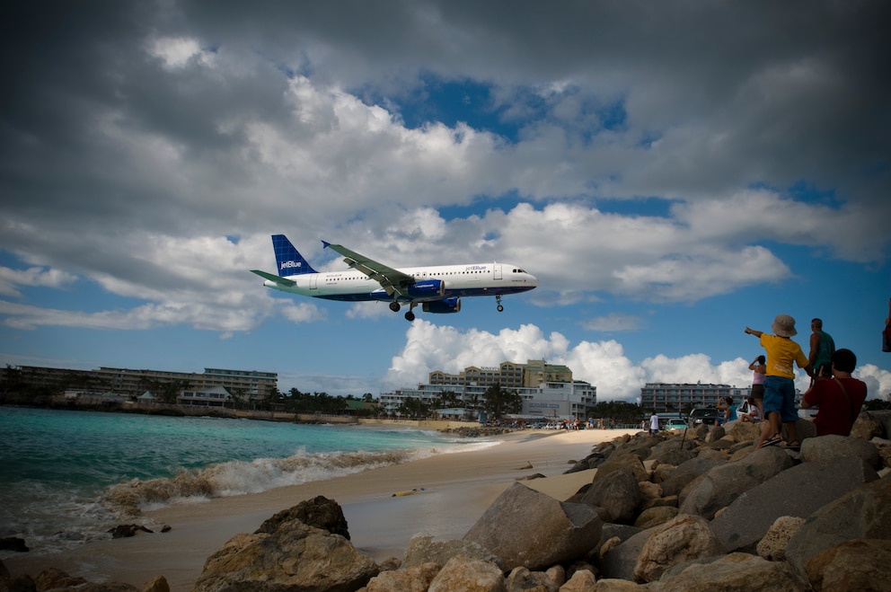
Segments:
[[[582,459],[600,442],[627,430],[525,430],[498,437],[501,443],[481,450],[440,454],[327,481],[262,493],[217,498],[146,512],[133,520],[157,527],[154,534],[100,540],[67,552],[4,560],[13,576],[56,567],[90,581],[114,579],[137,588],[164,576],[173,591],[190,590],[207,556],[238,533],[252,533],[280,510],[317,495],[340,504],[351,542],[375,561],[402,558],[413,535],[461,538],[492,501],[518,478],[535,473],[544,479],[524,484],[555,499],[567,499],[591,482],[594,470],[562,474],[570,461]],[[469,440],[470,442],[471,440]],[[397,491],[417,489],[406,496]],[[421,490],[423,489],[423,490]],[[160,533],[160,525],[172,530]]]

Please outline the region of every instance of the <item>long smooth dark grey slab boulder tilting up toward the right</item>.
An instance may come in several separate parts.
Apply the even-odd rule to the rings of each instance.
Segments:
[[[827,475],[832,475],[827,479]],[[848,491],[878,479],[857,458],[802,463],[745,491],[711,522],[729,551],[754,552],[774,520],[781,516],[806,518]]]

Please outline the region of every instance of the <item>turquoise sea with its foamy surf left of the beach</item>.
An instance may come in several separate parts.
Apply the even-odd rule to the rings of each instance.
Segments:
[[[493,446],[436,431],[0,406],[0,537],[57,552],[143,509]],[[12,552],[0,552],[0,558]]]

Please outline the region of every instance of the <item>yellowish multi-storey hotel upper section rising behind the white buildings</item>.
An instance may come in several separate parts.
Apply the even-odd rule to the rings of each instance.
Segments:
[[[548,364],[543,359],[526,360],[525,364],[501,362],[497,367],[465,367],[458,374],[434,370],[429,374],[433,385],[472,385],[489,387],[500,384],[502,388],[531,388],[545,382],[571,383],[572,370],[560,364]]]

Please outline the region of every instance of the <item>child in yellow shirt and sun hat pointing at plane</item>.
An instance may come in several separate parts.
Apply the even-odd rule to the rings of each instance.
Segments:
[[[795,319],[789,314],[777,314],[771,325],[773,334],[745,328],[746,335],[754,335],[767,351],[767,372],[764,376],[764,429],[755,447],[772,446],[782,441],[781,429],[786,427],[790,448],[801,446],[798,441],[798,411],[795,409],[795,369],[798,365],[814,376],[814,371],[807,361],[804,351],[791,338],[798,334],[795,330]]]

